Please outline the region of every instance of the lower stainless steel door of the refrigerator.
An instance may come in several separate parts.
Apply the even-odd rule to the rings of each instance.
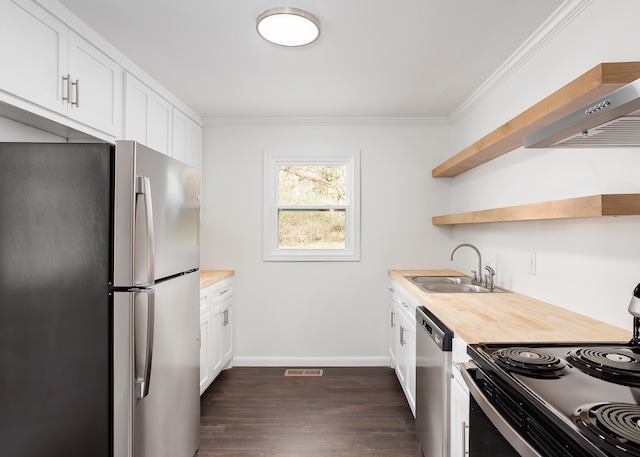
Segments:
[[[199,274],[115,296],[116,349],[128,348],[134,360],[115,357],[129,362],[114,367],[115,443],[116,451],[121,450],[114,455],[127,455],[126,437],[131,435],[135,457],[192,457],[200,446]],[[150,318],[153,338],[148,338]],[[151,370],[144,395],[138,381],[146,361]],[[130,402],[132,416],[127,408],[118,410],[124,400]]]

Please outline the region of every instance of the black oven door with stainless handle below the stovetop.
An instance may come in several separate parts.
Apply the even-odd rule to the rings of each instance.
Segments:
[[[469,388],[469,456],[470,457],[544,457],[524,440],[491,405],[476,384],[477,369],[463,364],[462,378]]]

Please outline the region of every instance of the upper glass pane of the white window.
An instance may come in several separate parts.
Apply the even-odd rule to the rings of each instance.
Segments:
[[[344,165],[280,165],[280,205],[339,205],[346,200],[347,167]]]

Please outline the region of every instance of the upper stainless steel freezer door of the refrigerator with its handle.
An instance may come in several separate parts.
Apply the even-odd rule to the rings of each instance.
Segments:
[[[199,268],[200,171],[116,142],[114,285],[145,286]]]

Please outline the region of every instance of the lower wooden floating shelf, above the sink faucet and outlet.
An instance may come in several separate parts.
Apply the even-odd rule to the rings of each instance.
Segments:
[[[433,225],[640,215],[640,194],[604,194],[434,216]]]

